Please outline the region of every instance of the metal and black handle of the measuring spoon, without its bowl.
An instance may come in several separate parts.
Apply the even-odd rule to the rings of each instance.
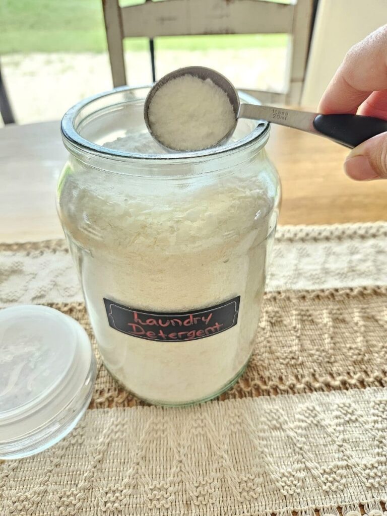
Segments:
[[[377,134],[387,132],[387,120],[362,115],[319,115],[294,109],[241,104],[239,118],[266,120],[325,136],[353,148]]]

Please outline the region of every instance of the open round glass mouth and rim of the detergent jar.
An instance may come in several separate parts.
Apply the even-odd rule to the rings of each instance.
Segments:
[[[251,144],[263,147],[267,141],[268,122],[240,119],[232,139],[219,147],[194,152],[166,151],[152,139],[143,120],[143,103],[149,89],[150,86],[123,86],[75,104],[61,122],[67,149],[116,160],[187,160],[220,157]],[[241,102],[259,104],[250,95],[238,93]]]

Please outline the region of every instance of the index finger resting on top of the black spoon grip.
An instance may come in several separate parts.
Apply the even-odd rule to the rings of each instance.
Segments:
[[[354,45],[320,101],[321,113],[356,113],[377,90],[387,89],[387,25]]]

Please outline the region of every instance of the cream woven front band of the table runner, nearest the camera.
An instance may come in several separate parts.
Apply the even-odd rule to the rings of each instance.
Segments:
[[[0,465],[2,516],[382,516],[387,391],[88,410]]]

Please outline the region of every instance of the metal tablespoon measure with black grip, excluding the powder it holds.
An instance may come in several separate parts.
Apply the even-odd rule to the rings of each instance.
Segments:
[[[301,131],[324,136],[336,143],[353,148],[365,140],[387,131],[387,121],[380,118],[364,117],[361,115],[320,115],[294,109],[283,109],[280,107],[258,106],[253,104],[240,104],[239,96],[231,82],[222,74],[205,67],[186,67],[174,70],[165,75],[154,84],[145,101],[144,119],[150,134],[160,142],[152,131],[148,111],[153,95],[156,91],[170,80],[183,75],[193,75],[202,80],[210,79],[216,86],[222,89],[228,96],[232,105],[235,124],[213,147],[227,140],[234,132],[238,118],[248,118],[250,120],[265,120],[287,127],[294,127]]]

